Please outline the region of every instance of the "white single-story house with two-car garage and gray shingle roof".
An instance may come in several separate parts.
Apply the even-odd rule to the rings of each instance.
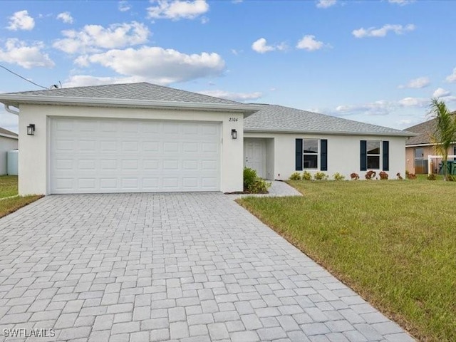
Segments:
[[[150,83],[2,93],[0,102],[19,108],[21,195],[236,192],[244,165],[271,180],[296,170],[393,176],[405,172],[410,136]]]

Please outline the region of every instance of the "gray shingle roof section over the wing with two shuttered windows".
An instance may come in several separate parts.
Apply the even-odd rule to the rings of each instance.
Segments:
[[[244,120],[244,131],[399,136],[413,134],[281,105],[264,105]]]

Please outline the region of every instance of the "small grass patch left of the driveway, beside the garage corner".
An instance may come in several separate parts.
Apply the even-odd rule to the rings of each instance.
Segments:
[[[42,197],[41,195],[17,195],[17,176],[0,176],[0,217],[11,214],[11,212],[15,212]]]

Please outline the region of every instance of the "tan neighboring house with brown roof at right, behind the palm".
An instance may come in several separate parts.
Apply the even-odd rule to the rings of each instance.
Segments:
[[[429,170],[428,166],[428,156],[438,155],[435,151],[435,144],[430,139],[432,133],[435,132],[435,119],[427,120],[424,123],[419,123],[405,130],[415,133],[414,137],[408,138],[407,142],[405,142],[405,167],[408,172],[417,175],[424,175],[429,172],[439,173],[440,163],[442,162],[441,158],[431,158],[431,170]],[[456,143],[451,145],[448,155],[456,155]]]

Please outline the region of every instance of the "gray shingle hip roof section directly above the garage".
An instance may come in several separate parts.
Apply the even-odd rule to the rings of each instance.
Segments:
[[[165,86],[157,86],[155,84],[146,82],[22,91],[20,93],[8,93],[4,95],[62,96],[67,98],[110,98],[123,100],[152,100],[184,103],[239,105],[238,102],[231,100],[214,98],[213,96],[209,95],[192,93],[190,91],[179,90]]]

